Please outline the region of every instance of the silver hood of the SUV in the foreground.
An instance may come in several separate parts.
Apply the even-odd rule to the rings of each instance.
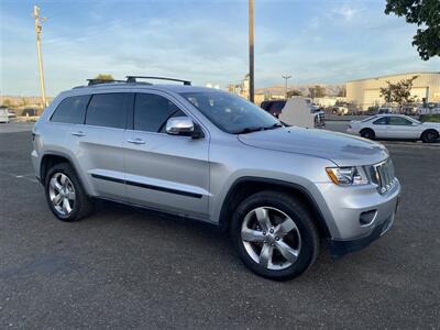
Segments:
[[[253,147],[327,158],[339,166],[371,165],[388,157],[382,144],[316,129],[280,128],[241,134],[238,139]]]

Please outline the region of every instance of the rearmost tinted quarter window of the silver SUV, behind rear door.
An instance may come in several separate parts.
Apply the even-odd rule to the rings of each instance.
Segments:
[[[84,114],[89,99],[88,95],[65,98],[55,109],[51,121],[84,123]]]

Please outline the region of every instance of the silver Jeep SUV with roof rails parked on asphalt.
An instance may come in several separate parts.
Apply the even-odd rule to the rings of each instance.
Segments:
[[[321,242],[343,255],[391,228],[400,185],[383,145],[139,78],[64,91],[35,124],[32,161],[58,219],[107,199],[211,222],[274,279],[305,272]]]

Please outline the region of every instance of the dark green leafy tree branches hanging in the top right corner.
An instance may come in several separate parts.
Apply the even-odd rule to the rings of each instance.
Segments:
[[[385,13],[405,16],[417,24],[413,46],[424,61],[440,56],[440,1],[439,0],[386,0]]]

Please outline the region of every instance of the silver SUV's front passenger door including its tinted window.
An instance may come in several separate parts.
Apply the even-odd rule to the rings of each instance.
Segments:
[[[162,92],[135,96],[133,127],[124,136],[127,198],[154,209],[206,219],[209,139],[168,135],[166,121],[187,116]]]

